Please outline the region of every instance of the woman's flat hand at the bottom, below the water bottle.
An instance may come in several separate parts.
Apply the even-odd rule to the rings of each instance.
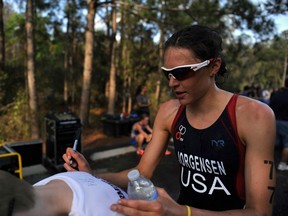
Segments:
[[[162,188],[157,188],[158,198],[153,201],[120,199],[111,209],[124,215],[169,216],[187,215],[187,208],[176,203]]]

